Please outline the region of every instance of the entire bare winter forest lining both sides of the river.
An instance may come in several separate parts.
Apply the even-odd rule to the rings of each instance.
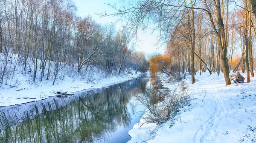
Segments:
[[[125,1],[126,2],[126,1]],[[70,0],[0,0],[0,83],[13,78],[22,67],[36,79],[58,78],[97,68],[105,75],[119,75],[128,68],[145,71],[148,60],[131,40],[139,29],[159,31],[164,54],[151,55],[150,69],[167,75],[196,71],[247,72],[253,77],[256,31],[255,0],[139,0],[128,2],[113,14],[125,27],[102,25],[90,16],[78,17]]]

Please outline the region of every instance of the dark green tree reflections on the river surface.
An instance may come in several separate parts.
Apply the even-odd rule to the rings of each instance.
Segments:
[[[0,112],[0,143],[82,143],[107,138],[108,132],[115,131],[117,126],[129,126],[127,104],[131,95],[145,89],[143,85],[140,81],[127,82],[94,94],[89,92],[93,96],[81,93],[79,100],[71,104],[52,101],[40,108],[35,106],[32,112],[25,113],[23,122],[14,117],[15,123],[9,123],[5,113]]]

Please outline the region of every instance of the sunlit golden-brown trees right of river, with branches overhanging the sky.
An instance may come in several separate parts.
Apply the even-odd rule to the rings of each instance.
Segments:
[[[254,76],[255,13],[255,0],[139,0],[116,11],[128,17],[127,27],[134,31],[153,27],[161,32],[167,50],[151,58],[151,69],[189,72],[192,84],[196,71],[208,70],[224,74],[226,85],[230,71],[250,70],[247,82]],[[235,53],[240,54],[236,64]]]

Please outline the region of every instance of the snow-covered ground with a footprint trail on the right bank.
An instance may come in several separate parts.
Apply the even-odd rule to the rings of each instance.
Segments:
[[[197,73],[195,79],[195,84],[189,76],[184,80],[191,93],[190,106],[161,125],[142,125],[140,119],[129,131],[132,138],[128,143],[256,143],[256,78],[229,86],[222,73]]]

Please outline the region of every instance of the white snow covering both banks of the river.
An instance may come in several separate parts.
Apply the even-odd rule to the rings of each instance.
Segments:
[[[9,78],[0,87],[0,107],[46,99],[55,96],[57,91],[72,93],[107,87],[139,76],[106,76],[96,67],[73,73],[67,67],[59,71],[58,79],[52,85],[52,79],[40,81],[39,69],[36,81],[32,81],[32,73],[24,72],[22,65],[17,65],[14,78],[10,78],[14,65],[8,64],[10,69],[7,70],[9,73],[6,73],[6,77]],[[33,71],[32,61],[29,65]],[[246,77],[244,73],[241,75]],[[64,80],[62,77],[65,77]],[[174,89],[172,83],[164,82],[166,76],[161,78],[164,87]],[[199,76],[197,73],[195,79],[195,84],[191,84],[189,76],[182,81],[188,85],[192,98],[190,106],[181,108],[173,120],[160,125],[144,123],[141,118],[140,123],[129,131],[132,137],[129,143],[255,143],[256,78],[250,78],[250,83],[245,81],[229,86],[225,85],[223,73],[220,76],[216,73],[209,75],[208,72]]]

